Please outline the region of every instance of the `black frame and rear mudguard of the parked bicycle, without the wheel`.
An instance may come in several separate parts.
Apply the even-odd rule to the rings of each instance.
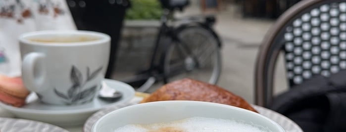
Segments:
[[[194,18],[192,19],[186,19],[187,23],[182,24],[178,27],[168,26],[168,20],[170,20],[173,12],[169,9],[164,9],[163,14],[160,18],[160,27],[158,29],[158,33],[156,35],[155,43],[152,48],[152,55],[150,57],[150,63],[147,70],[141,72],[141,74],[135,75],[133,78],[130,78],[128,80],[123,80],[123,82],[128,83],[132,85],[133,87],[139,87],[137,91],[144,92],[146,91],[153,83],[156,81],[163,81],[164,83],[167,83],[167,77],[171,75],[165,75],[163,71],[162,62],[164,61],[164,54],[170,47],[170,44],[172,44],[172,41],[178,41],[177,33],[179,33],[180,30],[191,26],[191,25],[198,25],[200,27],[203,27],[210,31],[214,35],[216,40],[218,40],[219,47],[221,46],[221,42],[218,39],[218,36],[216,33],[212,30],[211,26],[215,22],[214,17],[204,17],[205,21],[201,22],[200,20],[196,20]],[[191,18],[191,17],[190,17]],[[192,50],[189,49],[187,44],[179,43],[183,50],[187,54],[191,54]],[[193,57],[194,60],[196,60],[196,57]],[[157,62],[158,61],[158,62]],[[197,61],[196,61],[197,62]]]

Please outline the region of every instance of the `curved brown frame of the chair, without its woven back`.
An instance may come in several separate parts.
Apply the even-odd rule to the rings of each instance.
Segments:
[[[255,103],[267,106],[273,99],[273,77],[276,61],[280,53],[285,52],[284,35],[286,28],[301,15],[316,7],[345,0],[302,0],[288,9],[276,21],[265,35],[255,64],[254,89]],[[290,85],[292,82],[290,82]]]

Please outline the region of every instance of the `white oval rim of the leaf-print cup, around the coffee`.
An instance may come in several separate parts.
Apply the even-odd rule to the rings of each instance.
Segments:
[[[86,36],[97,36],[97,40],[80,41],[80,42],[38,42],[30,41],[29,37],[42,36],[42,35],[59,35],[59,34],[77,34]],[[18,37],[19,41],[24,44],[29,45],[39,45],[47,47],[70,47],[70,46],[86,46],[86,45],[96,45],[101,43],[107,43],[110,41],[110,36],[105,33],[99,33],[94,31],[83,31],[83,30],[46,30],[46,31],[34,31],[29,33],[23,33]]]

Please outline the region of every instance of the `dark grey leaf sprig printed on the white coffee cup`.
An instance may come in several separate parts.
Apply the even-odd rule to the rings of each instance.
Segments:
[[[95,71],[90,72],[90,68],[87,67],[86,81],[83,82],[82,72],[76,66],[72,66],[70,72],[70,79],[72,82],[71,88],[69,88],[67,92],[61,92],[54,88],[54,93],[63,99],[63,102],[67,105],[89,102],[91,99],[94,99],[99,86],[94,85],[85,90],[82,90],[82,88],[87,82],[93,80],[100,73],[101,69],[102,66],[99,66]],[[38,96],[40,97],[40,95]]]

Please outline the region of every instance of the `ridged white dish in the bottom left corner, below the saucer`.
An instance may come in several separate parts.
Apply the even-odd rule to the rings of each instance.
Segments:
[[[60,127],[50,125],[43,122],[13,119],[13,118],[0,118],[0,131],[1,132],[68,132]]]

